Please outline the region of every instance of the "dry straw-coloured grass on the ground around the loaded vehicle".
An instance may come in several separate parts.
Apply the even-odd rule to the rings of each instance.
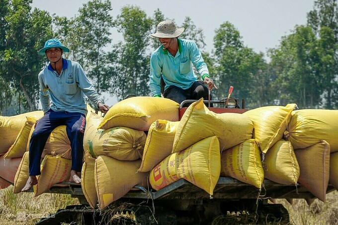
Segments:
[[[285,199],[278,199],[276,203],[288,210],[290,225],[338,224],[337,191],[327,194],[326,203],[318,199],[310,206],[304,199],[294,199],[292,205]],[[33,193],[13,194],[13,187],[10,186],[0,190],[0,224],[34,225],[40,218],[47,217],[58,209],[77,204],[78,199],[65,194],[42,194],[36,198]]]

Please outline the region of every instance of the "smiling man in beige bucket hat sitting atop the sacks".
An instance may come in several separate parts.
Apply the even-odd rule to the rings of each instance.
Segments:
[[[161,76],[165,83],[165,98],[181,103],[186,99],[208,99],[210,90],[215,87],[210,78],[208,67],[195,42],[178,39],[184,28],[177,28],[171,20],[165,20],[157,25],[153,37],[159,38],[161,46],[150,58],[150,90],[154,97],[161,97]],[[192,65],[202,76],[197,80]]]

